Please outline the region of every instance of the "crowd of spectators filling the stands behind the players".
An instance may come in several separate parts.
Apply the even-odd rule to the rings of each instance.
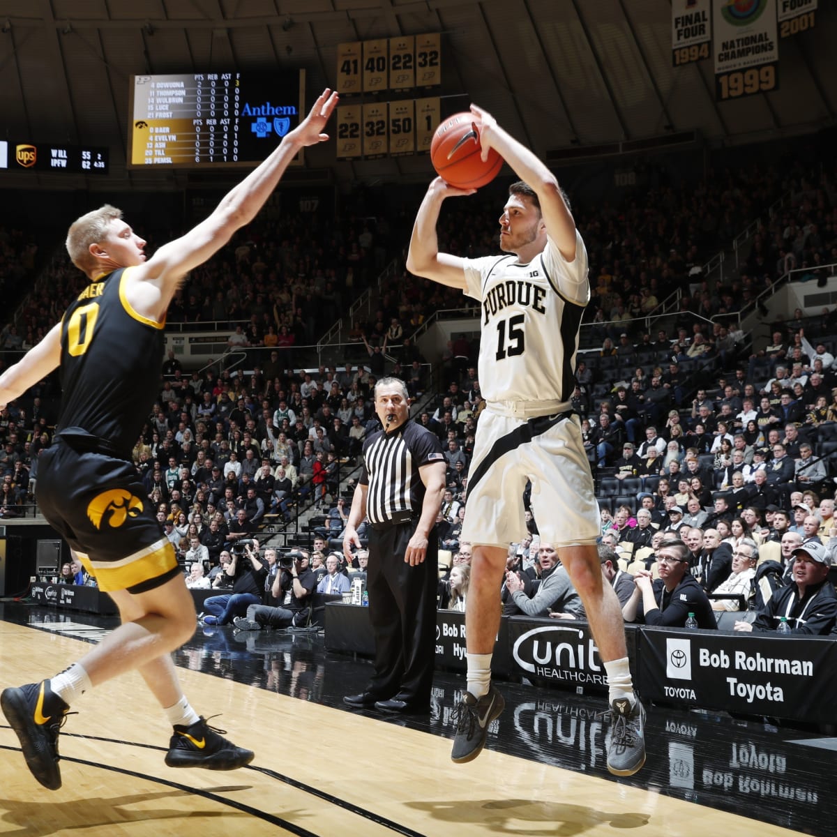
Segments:
[[[753,357],[742,357],[743,336],[733,325],[737,312],[787,270],[807,267],[810,273],[801,278],[819,280],[821,266],[837,261],[834,172],[810,172],[797,163],[778,171],[727,169],[695,187],[670,182],[660,170],[641,199],[631,195],[594,208],[580,200],[574,208],[593,286],[583,334],[588,347],[596,348],[579,356],[573,403],[597,472],[603,536],[618,536],[618,552],[603,557],[603,573],[612,570],[623,592],[620,566],[643,560],[649,578],[663,568],[657,562],[652,572],[647,553],[638,556],[659,549],[664,533],[686,542],[699,531],[701,549],[702,538],[716,537],[711,531],[721,544],[752,539],[760,548],[761,542],[781,540],[774,521],[784,516],[796,523],[798,514],[799,526],[809,517],[819,521],[823,503],[834,495],[822,454],[830,428],[837,426],[837,340],[828,337],[837,331],[837,316],[831,312],[811,322],[797,311]],[[706,259],[783,195],[788,201],[763,220],[737,274],[707,283]],[[495,253],[495,213],[449,204],[439,223],[440,248]],[[355,463],[363,438],[377,427],[372,387],[384,372],[403,377],[413,398],[438,393],[416,420],[439,435],[448,463],[440,547],[453,556],[451,573],[467,567],[470,545],[459,542],[459,531],[475,428],[485,406],[473,365],[477,347],[465,335],[450,341],[441,377],[429,377],[413,336],[436,311],[473,308],[473,300],[396,271],[383,281],[372,317],[352,323],[349,339],[363,366],[293,371],[294,347],[315,341],[383,269],[392,245],[406,243],[405,217],[379,213],[372,223],[348,213],[343,223],[329,224],[269,213],[194,271],[173,301],[169,322],[229,332],[230,347],[264,350],[250,356],[252,372],[239,374],[214,368],[189,374],[168,357],[160,398],[133,450],[149,501],[190,567],[193,586],[207,583],[222,554],[247,542],[266,517],[286,521],[300,501],[326,511],[331,496],[323,534],[326,541],[339,537],[345,525],[338,501],[341,465]],[[9,236],[2,233],[0,274],[11,261]],[[37,342],[82,282],[78,271],[54,263],[18,321],[3,329],[3,347],[25,349]],[[674,289],[680,290],[680,311],[664,327],[647,331],[644,318]],[[19,513],[31,499],[37,454],[49,444],[54,382],[36,389],[29,393],[28,410],[13,404],[0,416],[0,435],[9,443],[0,454],[0,516]],[[529,518],[537,537],[537,521]],[[818,524],[817,534],[828,539],[832,532]],[[582,618],[576,603],[562,595],[548,600],[563,590],[555,579],[541,592],[560,567],[550,562],[550,545],[534,544],[510,547],[504,606]],[[676,552],[669,555],[675,570]],[[311,555],[311,565],[316,562],[323,573],[328,560],[325,550]],[[704,592],[721,583],[737,588],[727,578],[732,558],[729,567],[706,573],[694,551],[682,563],[690,565],[689,577],[699,578]],[[787,580],[790,562],[779,563]],[[467,572],[457,570],[453,586],[448,573],[443,581],[445,598],[463,606]],[[634,618],[644,610],[635,604]]]

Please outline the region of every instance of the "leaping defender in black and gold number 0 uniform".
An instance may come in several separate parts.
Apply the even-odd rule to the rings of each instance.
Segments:
[[[67,249],[91,284],[44,340],[0,376],[6,404],[60,365],[57,444],[39,460],[37,497],[74,556],[110,593],[122,622],[59,675],[0,696],[28,768],[46,788],[61,786],[58,734],[69,706],[133,669],[174,727],[169,767],[231,770],[253,758],[209,727],[183,696],[170,653],[194,633],[193,600],[137,479],[131,447],[157,393],[162,328],[177,287],[255,217],[300,148],[328,139],[322,131],[336,103],[336,93],[324,90],[306,119],[212,215],[151,259],[118,209],[104,206],[79,218]]]

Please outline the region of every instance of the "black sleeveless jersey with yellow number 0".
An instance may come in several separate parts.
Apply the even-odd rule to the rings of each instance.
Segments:
[[[160,388],[163,324],[136,313],[121,268],[91,282],[61,321],[59,431],[81,428],[131,457]]]

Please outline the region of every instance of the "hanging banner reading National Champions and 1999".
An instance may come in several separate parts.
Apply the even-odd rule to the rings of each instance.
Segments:
[[[776,0],[713,0],[718,101],[778,89]]]

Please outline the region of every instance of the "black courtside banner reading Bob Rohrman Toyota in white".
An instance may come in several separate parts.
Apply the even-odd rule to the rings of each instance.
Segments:
[[[646,628],[639,694],[643,700],[831,722],[837,643],[816,637]]]

